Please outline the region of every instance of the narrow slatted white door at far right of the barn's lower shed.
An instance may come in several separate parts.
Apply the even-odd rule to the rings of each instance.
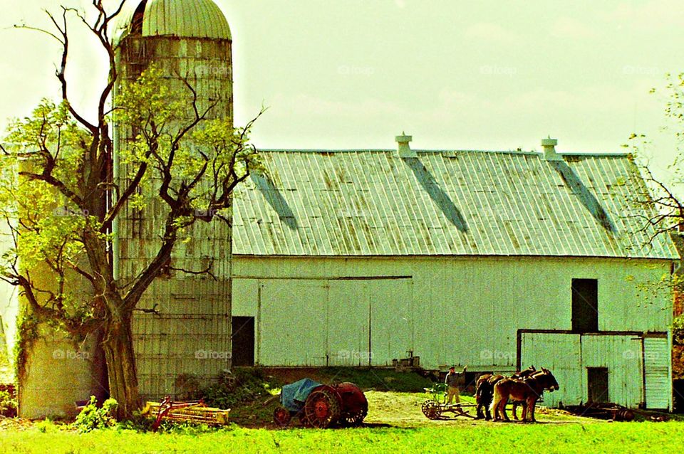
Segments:
[[[646,408],[670,409],[670,349],[667,337],[643,338],[643,370],[646,375]]]

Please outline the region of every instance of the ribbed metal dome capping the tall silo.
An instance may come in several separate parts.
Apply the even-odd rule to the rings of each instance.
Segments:
[[[128,34],[231,39],[226,16],[212,0],[142,0],[121,17],[115,41]]]

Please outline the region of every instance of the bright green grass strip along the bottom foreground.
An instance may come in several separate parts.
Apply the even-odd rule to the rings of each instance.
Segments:
[[[452,423],[344,430],[229,428],[202,434],[6,431],[1,453],[675,453],[684,423]]]

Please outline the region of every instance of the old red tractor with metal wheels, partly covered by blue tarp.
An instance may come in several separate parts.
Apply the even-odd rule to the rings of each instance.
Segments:
[[[283,386],[281,406],[275,409],[273,421],[287,426],[293,417],[306,427],[360,426],[368,414],[368,401],[353,383],[334,386],[303,379]]]

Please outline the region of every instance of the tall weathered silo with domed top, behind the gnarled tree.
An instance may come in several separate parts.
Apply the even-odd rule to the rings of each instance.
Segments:
[[[193,117],[192,92],[199,109],[217,103],[208,119],[232,119],[232,41],[228,22],[211,0],[143,0],[131,11],[117,39],[119,84],[131,83],[150,65],[162,71],[167,87],[185,100]],[[184,82],[184,79],[186,82]],[[199,127],[202,127],[201,125]],[[115,180],[127,173],[119,157],[138,135],[136,125],[115,125]],[[192,139],[185,146],[194,146]],[[127,206],[114,227],[114,260],[118,280],[135,278],[160,247],[165,204],[150,197],[144,208]],[[230,366],[229,224],[199,221],[188,243],[178,242],[172,268],[202,270],[213,263],[213,275],[170,270],[157,278],[133,320],[140,393],[145,398],[179,394],[187,375],[207,381]]]

